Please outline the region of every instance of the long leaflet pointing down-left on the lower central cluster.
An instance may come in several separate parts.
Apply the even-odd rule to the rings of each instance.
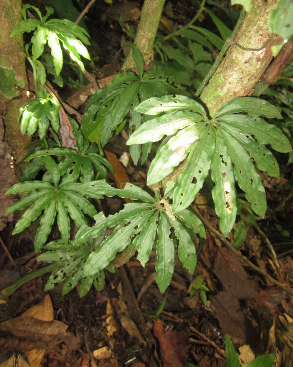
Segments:
[[[84,275],[92,275],[104,269],[112,261],[117,252],[123,251],[131,242],[131,237],[141,230],[141,226],[152,215],[153,210],[146,210],[134,217],[130,223],[118,225],[113,233],[101,244],[97,251],[92,252],[86,260]]]

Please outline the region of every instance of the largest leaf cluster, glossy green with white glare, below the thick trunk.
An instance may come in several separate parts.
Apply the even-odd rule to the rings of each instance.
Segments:
[[[283,153],[292,150],[281,130],[259,117],[282,118],[275,106],[259,98],[237,97],[210,118],[197,101],[186,96],[167,95],[149,98],[136,107],[136,111],[157,117],[142,124],[127,144],[171,136],[159,147],[151,162],[147,184],[162,180],[188,157],[187,166],[174,183],[172,208],[175,213],[191,204],[211,170],[215,183],[212,189],[215,211],[225,235],[236,218],[236,181],[245,192],[251,209],[259,216],[265,214],[265,189],[254,163],[258,169],[277,177],[278,163],[265,144]]]

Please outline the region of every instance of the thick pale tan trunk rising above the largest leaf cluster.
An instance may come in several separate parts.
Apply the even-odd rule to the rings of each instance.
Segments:
[[[252,0],[251,10],[245,15],[227,56],[201,95],[211,116],[230,99],[251,95],[270,64],[271,46],[278,44],[279,37],[270,31],[268,19],[278,2]]]

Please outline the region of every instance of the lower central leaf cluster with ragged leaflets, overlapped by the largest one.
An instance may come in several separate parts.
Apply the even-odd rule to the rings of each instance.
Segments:
[[[73,243],[82,244],[96,238],[106,228],[116,226],[100,247],[89,255],[84,275],[93,275],[104,269],[116,253],[123,251],[130,243],[137,250],[137,258],[143,266],[156,243],[156,280],[161,292],[165,292],[172,278],[175,247],[178,246],[178,256],[183,266],[192,274],[196,265],[196,253],[189,230],[205,237],[201,221],[187,209],[174,215],[167,201],[160,200],[158,192],[156,198],[153,198],[145,190],[128,183],[123,190],[110,186],[108,189],[105,191],[108,196],[114,190],[120,197],[140,199],[143,203],[127,203],[120,212],[108,217],[100,212],[94,216],[96,224],[93,227],[84,226],[78,230]]]

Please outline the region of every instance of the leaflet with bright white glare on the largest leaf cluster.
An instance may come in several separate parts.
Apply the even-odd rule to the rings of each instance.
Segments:
[[[161,146],[150,164],[147,173],[147,185],[155,184],[173,171],[188,155],[191,143],[198,139],[196,124],[181,130]]]

